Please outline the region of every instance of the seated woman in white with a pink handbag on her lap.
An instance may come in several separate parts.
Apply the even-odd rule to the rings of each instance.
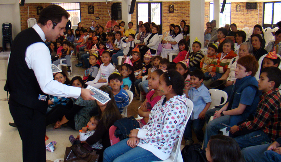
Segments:
[[[166,40],[162,41],[163,44],[165,43],[171,44],[170,49],[162,48],[162,52],[161,52],[162,58],[167,58],[167,55],[170,53],[179,53],[178,43],[182,39],[183,39],[183,35],[181,34],[180,26],[176,25],[174,28],[174,34],[172,35],[170,41],[166,41]]]

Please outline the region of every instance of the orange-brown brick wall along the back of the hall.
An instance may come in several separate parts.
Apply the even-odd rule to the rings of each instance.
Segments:
[[[81,22],[84,27],[91,26],[91,21],[95,17],[100,17],[100,20],[96,20],[97,24],[101,26],[106,26],[106,22],[110,20],[108,11],[111,14],[111,5],[114,2],[81,2]],[[43,6],[47,7],[51,3],[26,3],[24,6],[20,6],[20,15],[21,15],[21,30],[27,28],[27,19],[28,19],[28,10],[29,7],[29,17],[36,18],[38,20],[39,16],[37,15],[36,7]],[[169,13],[169,5],[173,4],[175,11],[174,13]],[[240,4],[240,12],[236,12],[236,5]],[[88,14],[88,6],[93,5],[95,8],[94,14]],[[245,9],[246,2],[232,2],[231,3],[231,23],[235,23],[238,28],[244,27],[253,27],[257,22],[262,24],[263,17],[263,2],[258,2],[258,10],[247,10]],[[190,23],[190,2],[162,2],[162,11],[163,11],[163,32],[169,30],[169,25],[174,23],[179,25],[181,20],[185,20],[186,24]],[[210,2],[205,2],[205,24],[209,21],[209,12],[210,12]],[[258,16],[259,15],[259,16]],[[133,29],[136,30],[136,6],[134,14],[131,14],[131,21],[134,23]],[[127,26],[127,23],[126,23]]]

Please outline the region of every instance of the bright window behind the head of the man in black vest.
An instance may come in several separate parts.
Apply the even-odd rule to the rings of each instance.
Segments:
[[[71,17],[79,17],[79,22],[81,22],[81,13],[80,13],[80,3],[52,3],[58,6],[61,6],[69,13],[70,17],[68,18],[71,20]],[[77,25],[77,24],[72,24]]]

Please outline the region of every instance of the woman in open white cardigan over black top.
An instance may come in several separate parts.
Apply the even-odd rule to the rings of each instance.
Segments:
[[[159,31],[159,26],[158,25],[154,25],[152,27],[152,33],[150,35],[148,35],[145,40],[144,40],[144,45],[147,46],[146,49],[141,49],[141,59],[143,59],[143,56],[145,55],[145,53],[150,50],[151,54],[154,55],[156,54],[156,50],[157,47],[159,45],[159,35],[157,34]]]

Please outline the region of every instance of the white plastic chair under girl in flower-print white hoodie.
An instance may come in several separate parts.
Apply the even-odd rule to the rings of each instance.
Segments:
[[[190,99],[187,99],[186,107],[187,107],[187,118],[186,118],[186,121],[185,121],[185,125],[183,126],[182,130],[180,130],[180,135],[179,135],[180,138],[175,143],[175,147],[172,150],[172,153],[170,154],[170,157],[168,159],[164,160],[164,161],[161,161],[161,162],[183,162],[182,155],[181,155],[181,152],[180,152],[180,143],[181,143],[182,137],[184,135],[184,130],[185,130],[185,127],[187,125],[187,121],[190,118],[190,115],[191,115],[192,109],[193,109],[193,102]],[[157,161],[157,162],[159,162],[159,161]]]

